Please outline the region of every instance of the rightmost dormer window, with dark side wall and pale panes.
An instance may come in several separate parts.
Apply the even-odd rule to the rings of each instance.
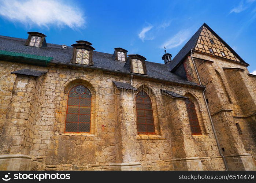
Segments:
[[[130,69],[130,72],[137,74],[146,74],[146,58],[141,55],[128,55],[129,58],[125,63],[125,68]]]

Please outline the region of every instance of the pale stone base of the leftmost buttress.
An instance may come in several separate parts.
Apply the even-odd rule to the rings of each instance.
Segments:
[[[31,157],[24,154],[0,155],[0,170],[29,170]]]

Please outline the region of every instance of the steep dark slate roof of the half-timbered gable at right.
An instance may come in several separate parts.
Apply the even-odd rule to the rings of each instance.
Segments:
[[[196,46],[197,39],[200,36],[201,30],[203,29],[203,26],[205,26],[209,31],[211,31],[214,36],[216,36],[220,42],[222,42],[241,62],[246,63],[221,37],[218,36],[206,23],[204,23],[197,31],[196,33],[190,38],[190,40],[183,46],[181,51],[178,52],[178,54],[172,59],[172,62],[169,64],[170,70],[174,70],[181,61],[185,59],[185,57],[190,53],[191,49],[194,49]],[[249,64],[248,64],[249,65]]]

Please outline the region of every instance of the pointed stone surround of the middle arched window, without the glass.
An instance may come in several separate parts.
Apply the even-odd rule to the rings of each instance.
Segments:
[[[154,127],[155,127],[155,134],[138,134],[138,130],[136,131],[137,137],[160,137],[161,136],[161,130],[160,130],[160,122],[159,122],[159,113],[158,113],[158,108],[157,108],[157,96],[155,92],[151,89],[151,87],[147,85],[141,85],[137,87],[138,91],[134,92],[134,112],[137,112],[136,108],[136,96],[138,93],[140,93],[141,90],[146,92],[151,100],[151,105],[152,105],[152,110],[153,110],[153,120],[154,120]],[[137,115],[136,115],[136,129],[137,129]]]

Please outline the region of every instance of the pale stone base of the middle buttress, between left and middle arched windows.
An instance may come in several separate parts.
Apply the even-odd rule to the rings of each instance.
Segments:
[[[115,171],[139,171],[142,170],[141,163],[133,162],[133,163],[110,163],[110,170]]]

